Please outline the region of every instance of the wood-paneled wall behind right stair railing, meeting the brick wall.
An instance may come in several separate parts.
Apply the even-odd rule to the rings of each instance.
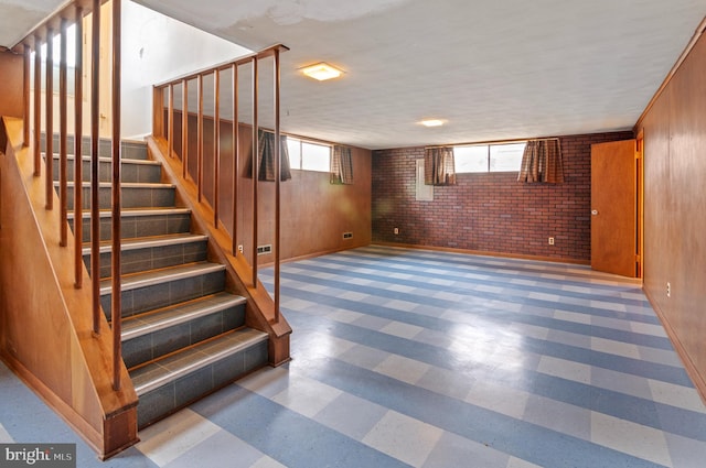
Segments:
[[[204,135],[213,134],[213,119],[204,119]],[[196,177],[196,116],[189,116],[189,173]],[[221,122],[221,166],[218,210],[221,221],[228,232],[233,224],[233,130],[232,123]],[[253,130],[240,126],[240,163],[238,174],[238,199],[243,207],[237,211],[238,243],[249,262],[252,252],[252,194],[253,179],[246,173],[252,151]],[[212,205],[214,151],[208,137],[204,137],[203,194]],[[174,151],[181,154],[181,113],[176,112],[174,124]],[[371,243],[372,238],[372,153],[353,148],[353,185],[332,185],[329,173],[291,171],[292,178],[281,183],[281,252],[282,261],[351,249]],[[258,186],[258,244],[274,244],[275,233],[275,184],[260,182]],[[343,239],[343,232],[353,238]],[[232,232],[231,232],[232,233]],[[259,264],[274,261],[274,255],[258,255]]]

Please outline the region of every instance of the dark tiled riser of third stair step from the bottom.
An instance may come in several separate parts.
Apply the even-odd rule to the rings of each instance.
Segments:
[[[224,286],[225,274],[223,271],[215,271],[195,277],[122,291],[122,317],[130,317],[142,312],[165,307],[207,294],[215,294],[223,291]],[[110,301],[110,294],[100,296],[100,305],[108,320],[111,314]]]

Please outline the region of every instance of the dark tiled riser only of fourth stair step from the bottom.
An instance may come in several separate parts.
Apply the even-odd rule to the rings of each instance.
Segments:
[[[186,242],[174,246],[150,247],[121,252],[120,271],[122,274],[175,266],[206,260],[206,241]],[[113,254],[100,254],[100,277],[110,276]],[[84,263],[90,273],[90,255],[84,255]]]

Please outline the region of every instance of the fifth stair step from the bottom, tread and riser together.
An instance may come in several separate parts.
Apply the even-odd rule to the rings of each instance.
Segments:
[[[100,239],[113,238],[110,210],[100,210]],[[83,211],[84,242],[90,240],[90,211]],[[165,236],[186,233],[191,229],[191,211],[186,208],[125,208],[120,216],[122,239],[141,238],[148,236]],[[68,213],[68,222],[74,228],[74,211]]]

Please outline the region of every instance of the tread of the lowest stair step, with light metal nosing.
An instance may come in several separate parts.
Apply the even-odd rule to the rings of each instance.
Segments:
[[[229,331],[132,369],[130,378],[137,394],[142,395],[267,338],[266,333],[253,328]]]

